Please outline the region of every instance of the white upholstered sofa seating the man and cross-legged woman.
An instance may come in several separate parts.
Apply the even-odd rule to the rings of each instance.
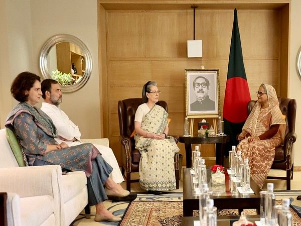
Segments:
[[[106,138],[83,142],[108,146]],[[9,226],[67,226],[88,203],[84,172],[62,175],[59,165],[19,167],[5,129],[0,130],[0,192],[10,197]]]

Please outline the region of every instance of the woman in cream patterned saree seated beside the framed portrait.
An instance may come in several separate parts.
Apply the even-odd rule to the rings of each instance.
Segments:
[[[144,103],[135,114],[135,146],[141,154],[139,184],[147,191],[176,189],[174,156],[179,148],[168,136],[168,113],[156,104],[159,93],[156,82],[148,81],[142,89]]]

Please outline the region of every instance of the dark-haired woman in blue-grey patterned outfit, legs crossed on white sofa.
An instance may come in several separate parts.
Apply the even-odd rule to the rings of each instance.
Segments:
[[[56,164],[67,171],[84,171],[88,178],[88,202],[96,205],[94,220],[120,221],[120,217],[104,207],[103,201],[107,195],[126,197],[129,192],[109,178],[112,167],[92,144],[69,147],[65,142],[58,144],[55,141],[57,130],[51,119],[35,107],[42,96],[40,77],[30,72],[19,74],[11,92],[20,103],[10,112],[6,127],[14,130],[29,165]]]

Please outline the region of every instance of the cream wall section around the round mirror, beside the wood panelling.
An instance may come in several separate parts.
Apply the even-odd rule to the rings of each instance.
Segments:
[[[41,74],[41,48],[54,35],[74,35],[90,50],[92,75],[80,90],[63,93],[61,108],[79,126],[82,138],[100,138],[97,0],[31,0],[31,16],[35,73]]]

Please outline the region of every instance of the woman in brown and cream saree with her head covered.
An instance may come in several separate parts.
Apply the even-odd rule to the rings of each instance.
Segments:
[[[286,128],[275,89],[261,84],[255,103],[242,133],[236,150],[242,158],[249,159],[251,177],[262,188],[273,163],[275,148],[283,144]]]

